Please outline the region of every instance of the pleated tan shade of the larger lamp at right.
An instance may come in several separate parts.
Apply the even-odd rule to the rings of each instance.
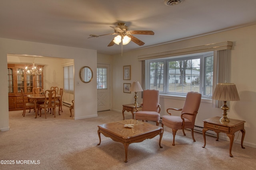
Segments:
[[[218,83],[213,92],[212,99],[220,101],[240,100],[234,83]]]

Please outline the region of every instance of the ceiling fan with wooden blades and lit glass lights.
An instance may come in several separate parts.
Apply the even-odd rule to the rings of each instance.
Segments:
[[[122,45],[126,45],[128,44],[130,41],[133,41],[134,43],[138,44],[138,45],[144,45],[145,43],[143,41],[141,41],[140,39],[134,37],[132,34],[140,34],[140,35],[154,35],[153,31],[129,31],[129,27],[126,26],[126,24],[124,22],[119,22],[117,23],[116,27],[110,26],[114,29],[114,33],[108,33],[108,34],[103,34],[103,35],[95,35],[95,34],[91,34],[90,37],[88,38],[92,38],[92,37],[101,37],[104,35],[117,35],[116,37],[114,37],[114,39],[112,39],[112,41],[108,44],[108,47],[113,46],[115,43],[119,44],[120,42],[122,43]],[[126,39],[128,39],[126,41]]]

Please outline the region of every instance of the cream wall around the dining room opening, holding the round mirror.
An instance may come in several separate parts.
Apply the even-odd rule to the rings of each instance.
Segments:
[[[80,68],[90,66],[93,72],[97,68],[97,51],[90,49],[81,49],[74,47],[64,47],[59,45],[50,45],[44,43],[34,43],[13,39],[0,38],[0,130],[9,130],[8,117],[8,92],[7,83],[7,54],[17,55],[36,55],[44,57],[56,57],[64,59],[74,59],[74,100],[75,117],[74,119],[83,119],[97,116],[97,90],[96,79],[90,83],[82,83],[79,78]],[[54,80],[50,80],[53,82]],[[79,82],[79,86],[76,83]],[[82,106],[82,107],[81,107]]]

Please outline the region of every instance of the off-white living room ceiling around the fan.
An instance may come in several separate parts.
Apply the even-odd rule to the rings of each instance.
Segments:
[[[0,37],[121,53],[107,47],[115,35],[110,26],[125,22],[134,35],[124,52],[256,24],[256,0],[183,0],[166,6],[164,0],[1,0]]]

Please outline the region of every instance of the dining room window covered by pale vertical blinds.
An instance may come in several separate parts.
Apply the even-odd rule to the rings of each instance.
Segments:
[[[64,92],[74,94],[74,69],[73,65],[63,67]]]

